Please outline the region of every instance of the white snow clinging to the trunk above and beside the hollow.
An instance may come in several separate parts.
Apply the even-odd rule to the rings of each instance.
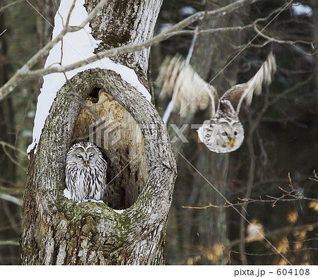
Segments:
[[[57,37],[59,32],[63,29],[72,2],[73,1],[69,0],[61,0],[59,10],[54,18],[53,39],[54,37]],[[84,3],[85,0],[76,1],[75,8],[73,9],[69,20],[70,26],[80,25],[87,17],[88,13],[83,6]],[[62,42],[59,42],[50,50],[47,61],[45,62],[45,68],[48,68],[49,66],[59,66],[60,64],[66,66],[73,64],[76,61],[87,59],[94,55],[94,49],[99,43],[100,41],[95,40],[91,35],[89,24],[82,30],[67,33]],[[136,87],[149,102],[151,101],[150,93],[146,90],[146,87],[139,82],[134,70],[120,64],[115,64],[109,58],[104,58],[86,66],[82,66],[81,68],[76,68],[73,71],[66,72],[66,76],[67,78],[71,78],[76,75],[76,73],[85,71],[88,68],[107,68],[119,73],[127,83]],[[37,98],[37,111],[35,113],[33,126],[33,142],[28,146],[28,153],[33,150],[34,147],[36,152],[37,143],[40,140],[42,128],[45,125],[45,119],[47,119],[49,109],[52,106],[58,90],[65,82],[66,79],[63,73],[51,73],[44,76],[43,85],[40,90],[41,93]]]

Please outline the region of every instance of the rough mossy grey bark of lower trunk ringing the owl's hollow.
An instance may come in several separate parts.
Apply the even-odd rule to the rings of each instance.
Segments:
[[[88,70],[70,83],[72,89],[66,84],[59,91],[37,152],[31,156],[23,204],[21,263],[162,264],[176,177],[165,125],[153,105],[117,73]],[[95,87],[109,92],[131,113],[145,142],[148,179],[136,202],[122,214],[102,203],[76,205],[62,195],[66,151],[81,111],[81,104],[73,102],[69,94],[76,90],[86,99]],[[143,124],[149,122],[154,129]]]

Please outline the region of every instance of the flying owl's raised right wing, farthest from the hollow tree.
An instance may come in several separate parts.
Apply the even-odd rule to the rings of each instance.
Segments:
[[[250,79],[247,83],[238,84],[231,87],[225,92],[221,99],[230,100],[232,107],[238,113],[240,111],[243,99],[250,105],[253,98],[253,93],[255,95],[261,94],[261,85],[264,83],[266,85],[271,84],[271,77],[276,72],[276,60],[271,52],[267,57],[266,61],[259,71]]]

